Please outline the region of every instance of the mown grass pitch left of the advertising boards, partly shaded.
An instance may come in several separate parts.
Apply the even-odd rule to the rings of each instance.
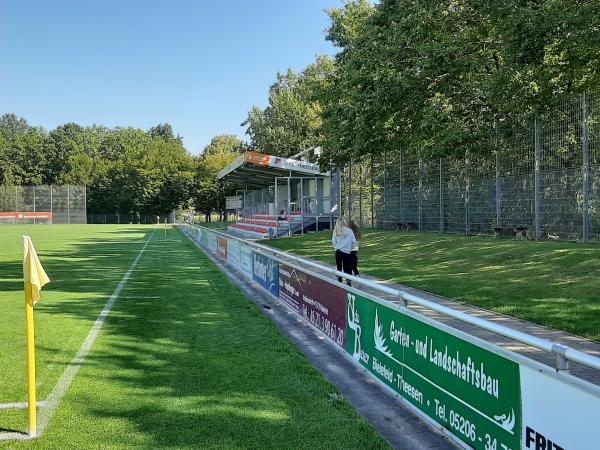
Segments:
[[[52,282],[36,309],[45,399],[151,226],[3,227],[0,401],[25,400],[21,234]],[[5,448],[385,448],[178,231],[159,229],[46,433]],[[26,428],[0,410],[0,429]]]

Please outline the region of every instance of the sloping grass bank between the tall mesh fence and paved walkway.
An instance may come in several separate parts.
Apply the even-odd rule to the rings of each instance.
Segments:
[[[333,264],[331,233],[265,241]],[[600,341],[600,247],[366,230],[362,273]]]

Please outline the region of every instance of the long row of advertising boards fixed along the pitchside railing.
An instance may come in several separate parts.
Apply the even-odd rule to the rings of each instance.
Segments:
[[[205,229],[200,237],[467,446],[566,450],[600,442],[597,390],[237,240]]]

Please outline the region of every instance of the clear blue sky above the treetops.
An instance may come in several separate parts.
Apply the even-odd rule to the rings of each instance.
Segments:
[[[0,0],[0,114],[147,129],[199,153],[264,107],[276,72],[302,69],[340,0]]]

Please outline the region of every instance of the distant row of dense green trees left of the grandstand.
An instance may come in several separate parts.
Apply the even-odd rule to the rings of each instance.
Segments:
[[[46,133],[14,114],[0,118],[0,184],[86,185],[92,212],[164,214],[186,206],[194,173],[168,124],[145,132],[69,123]]]

